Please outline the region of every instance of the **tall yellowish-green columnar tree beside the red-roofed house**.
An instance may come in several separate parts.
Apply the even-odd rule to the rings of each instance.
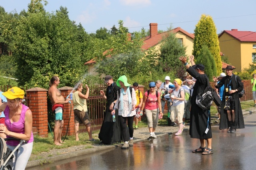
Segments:
[[[206,45],[212,53],[217,67],[217,73],[220,74],[222,72],[222,63],[216,27],[214,21],[212,20],[212,17],[203,14],[200,18],[200,21],[196,24],[195,29],[193,50],[193,55],[195,56],[195,59],[197,59],[204,45]]]

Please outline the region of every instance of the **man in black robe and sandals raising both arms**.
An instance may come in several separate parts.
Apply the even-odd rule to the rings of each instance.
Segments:
[[[194,56],[190,56],[192,66],[187,63],[187,57],[181,56],[180,61],[186,66],[187,72],[196,79],[194,91],[191,97],[190,109],[190,130],[191,138],[200,140],[201,146],[192,152],[201,152],[202,154],[212,154],[212,129],[210,125],[210,108],[203,111],[196,104],[197,94],[204,91],[208,86],[208,77],[204,74],[204,65],[194,63]],[[205,140],[207,141],[207,147]]]

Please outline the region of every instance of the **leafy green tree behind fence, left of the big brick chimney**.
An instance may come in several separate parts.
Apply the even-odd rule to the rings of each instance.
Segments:
[[[116,80],[121,75],[134,77],[139,73],[149,75],[156,63],[157,52],[154,49],[141,50],[143,39],[140,32],[134,33],[133,41],[128,41],[127,28],[119,21],[119,31],[116,36],[109,37],[105,42],[105,55],[98,54],[96,71],[100,74],[110,74]]]

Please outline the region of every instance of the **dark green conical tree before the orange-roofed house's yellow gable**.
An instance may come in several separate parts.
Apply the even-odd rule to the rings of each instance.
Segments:
[[[160,46],[158,68],[162,69],[164,72],[181,72],[183,69],[180,70],[180,68],[184,67],[178,59],[182,55],[186,55],[186,47],[184,47],[178,38],[176,38],[175,34],[170,31]]]

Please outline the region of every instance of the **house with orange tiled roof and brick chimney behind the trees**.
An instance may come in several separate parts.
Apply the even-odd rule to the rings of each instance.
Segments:
[[[161,41],[164,39],[166,35],[168,35],[169,31],[165,31],[162,33],[158,33],[158,24],[150,23],[150,35],[145,37],[144,45],[142,45],[142,49],[147,50],[150,47],[154,47],[156,50],[160,50]],[[176,34],[176,37],[180,40],[180,42],[186,46],[186,55],[192,55],[193,45],[194,45],[194,34],[188,33],[184,29],[177,27],[172,30],[173,33]],[[128,34],[130,36],[131,34]],[[130,39],[130,38],[129,38]],[[91,75],[96,75],[94,64],[95,60],[91,59],[90,61],[84,63],[84,65],[89,65],[88,72]]]

